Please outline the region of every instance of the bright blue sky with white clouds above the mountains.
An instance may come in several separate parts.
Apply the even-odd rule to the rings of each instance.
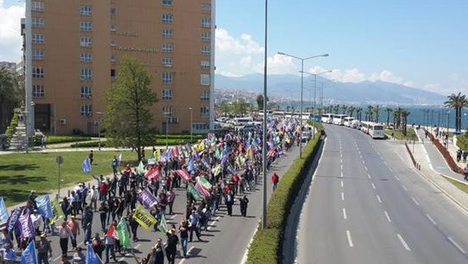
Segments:
[[[189,0],[176,0],[189,1]],[[265,0],[216,1],[216,73],[263,72]],[[341,82],[388,81],[468,94],[466,0],[270,0],[270,74],[304,70]],[[0,0],[0,61],[18,61],[24,0]]]

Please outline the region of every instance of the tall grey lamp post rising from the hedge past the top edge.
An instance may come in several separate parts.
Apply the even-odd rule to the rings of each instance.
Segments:
[[[265,49],[263,54],[263,129],[262,129],[262,176],[263,176],[263,203],[262,203],[262,229],[267,228],[267,173],[266,173],[266,151],[267,151],[267,73],[268,73],[268,0],[265,0]]]

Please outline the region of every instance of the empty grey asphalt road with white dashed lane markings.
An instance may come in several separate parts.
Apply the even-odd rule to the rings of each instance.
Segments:
[[[421,178],[401,144],[326,130],[296,263],[468,263],[468,215]]]

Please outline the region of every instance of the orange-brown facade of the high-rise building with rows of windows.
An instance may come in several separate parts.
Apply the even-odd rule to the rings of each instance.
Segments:
[[[169,133],[190,133],[191,123],[193,133],[206,132],[213,114],[214,10],[214,0],[32,1],[35,128],[97,133],[104,92],[130,55],[152,76],[156,129],[165,133],[169,121]]]

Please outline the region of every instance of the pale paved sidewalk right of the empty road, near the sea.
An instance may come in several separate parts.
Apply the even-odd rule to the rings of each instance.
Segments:
[[[434,144],[429,139],[424,139],[423,130],[420,129],[416,132],[421,139],[421,143],[415,144],[413,155],[417,162],[421,164],[421,174],[468,212],[468,194],[458,189],[444,177],[452,178],[464,184],[468,184],[468,182],[463,180],[463,175],[455,173],[449,168]]]

